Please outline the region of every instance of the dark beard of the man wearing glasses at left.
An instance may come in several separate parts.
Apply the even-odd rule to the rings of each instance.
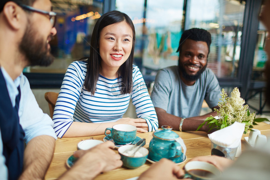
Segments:
[[[38,31],[34,29],[34,25],[29,21],[19,50],[25,55],[30,66],[49,66],[54,60],[50,50],[47,50],[47,42],[44,42]]]

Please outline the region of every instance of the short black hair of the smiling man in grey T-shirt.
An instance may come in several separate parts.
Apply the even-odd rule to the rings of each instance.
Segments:
[[[191,39],[193,41],[203,41],[207,43],[208,46],[208,54],[210,52],[210,44],[211,44],[211,34],[204,29],[192,28],[189,30],[185,30],[181,36],[179,41],[179,46],[176,52],[181,53],[182,44],[186,41],[186,39]],[[207,56],[208,56],[207,54]]]

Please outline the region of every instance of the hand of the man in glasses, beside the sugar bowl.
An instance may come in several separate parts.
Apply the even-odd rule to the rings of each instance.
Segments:
[[[60,179],[94,179],[101,172],[121,167],[121,156],[112,149],[114,144],[107,141],[89,150],[75,151],[73,155],[79,159]]]

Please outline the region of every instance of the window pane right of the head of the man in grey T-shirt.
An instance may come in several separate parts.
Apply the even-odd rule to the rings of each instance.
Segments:
[[[191,0],[188,7],[185,29],[203,28],[212,36],[207,67],[218,78],[235,78],[240,58],[245,2]]]

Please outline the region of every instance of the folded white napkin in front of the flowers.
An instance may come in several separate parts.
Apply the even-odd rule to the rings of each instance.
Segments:
[[[236,148],[245,130],[245,123],[235,122],[232,125],[208,134],[209,139],[216,145],[225,148]]]

